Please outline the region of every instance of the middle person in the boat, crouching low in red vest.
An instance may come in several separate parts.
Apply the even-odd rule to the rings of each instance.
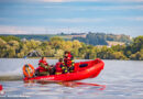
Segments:
[[[63,64],[63,58],[59,58],[58,63],[56,63],[56,75],[65,74],[67,73],[67,68]]]

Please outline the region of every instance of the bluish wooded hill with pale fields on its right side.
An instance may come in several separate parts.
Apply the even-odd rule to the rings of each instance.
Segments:
[[[91,45],[109,45],[109,42],[112,42],[113,45],[114,43],[131,43],[131,37],[129,35],[116,35],[106,33],[88,33],[86,37],[75,36],[73,37],[73,40],[78,40],[80,42]]]

